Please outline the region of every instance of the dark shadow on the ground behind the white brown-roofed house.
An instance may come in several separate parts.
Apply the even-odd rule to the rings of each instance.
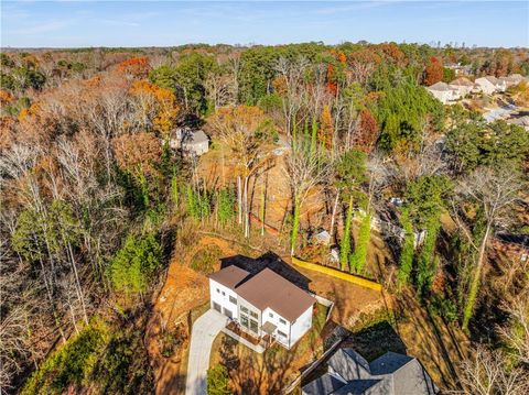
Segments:
[[[309,284],[311,283],[311,279],[298,272],[284,262],[281,256],[273,252],[267,252],[257,259],[245,255],[234,255],[220,259],[220,268],[231,265],[249,272],[251,276],[268,267],[292,284],[295,284],[301,289],[310,290]]]

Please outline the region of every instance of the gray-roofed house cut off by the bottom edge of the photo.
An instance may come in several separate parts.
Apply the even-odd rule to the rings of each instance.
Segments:
[[[306,384],[302,395],[433,395],[439,392],[421,363],[387,352],[368,363],[353,349],[339,349],[328,371]]]

